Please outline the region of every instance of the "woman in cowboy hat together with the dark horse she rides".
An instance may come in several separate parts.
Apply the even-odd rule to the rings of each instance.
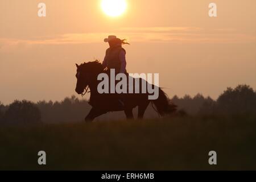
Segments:
[[[148,100],[149,93],[103,93],[100,94],[97,86],[100,81],[97,79],[100,73],[109,73],[109,69],[115,69],[115,73],[126,72],[126,59],[125,49],[122,44],[129,44],[126,40],[118,39],[116,36],[110,35],[104,42],[109,43],[109,48],[106,50],[106,55],[103,63],[93,61],[77,65],[77,83],[76,92],[82,94],[84,89],[88,86],[90,88],[89,104],[92,106],[89,114],[86,116],[85,121],[92,121],[94,118],[105,114],[109,111],[125,111],[127,118],[133,118],[133,108],[138,106],[138,118],[143,118],[144,112],[150,102],[156,106],[156,111],[160,115],[169,114],[176,110],[176,105],[169,103],[166,94],[162,89],[159,89],[159,97],[156,100]],[[108,68],[105,71],[105,68]],[[130,77],[135,84],[135,78]],[[142,90],[142,78],[139,79],[139,90]],[[134,85],[130,85],[133,90]],[[127,84],[127,88],[129,85]],[[87,89],[86,89],[87,90]],[[117,102],[116,102],[117,101]],[[120,104],[121,103],[121,104]]]

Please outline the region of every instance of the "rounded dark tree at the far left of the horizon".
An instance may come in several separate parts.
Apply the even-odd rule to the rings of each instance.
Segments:
[[[14,101],[5,112],[6,123],[28,124],[41,119],[40,110],[30,101]]]

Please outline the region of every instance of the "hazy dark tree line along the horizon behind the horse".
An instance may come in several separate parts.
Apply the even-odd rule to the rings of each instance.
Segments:
[[[248,115],[256,112],[256,92],[249,85],[238,85],[236,88],[227,88],[217,100],[197,94],[195,97],[185,95],[174,96],[171,102],[178,106],[177,115]],[[63,101],[31,101],[15,100],[10,105],[0,102],[1,124],[26,124],[39,122],[75,122],[82,121],[90,110],[86,100],[72,96]],[[146,118],[158,117],[152,106],[148,107]],[[102,115],[101,119],[125,118],[123,112]]]

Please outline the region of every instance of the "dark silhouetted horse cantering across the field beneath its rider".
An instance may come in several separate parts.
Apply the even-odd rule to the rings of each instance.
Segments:
[[[133,108],[138,106],[138,118],[143,118],[144,112],[150,102],[155,105],[159,115],[169,114],[176,111],[176,105],[169,103],[166,94],[159,88],[159,97],[156,100],[148,100],[148,93],[98,93],[97,85],[101,82],[97,80],[98,74],[108,73],[102,68],[101,63],[92,61],[77,65],[76,92],[82,94],[86,87],[90,89],[89,104],[92,106],[85,121],[92,121],[94,118],[109,111],[125,111],[128,119],[133,119]],[[141,79],[139,87],[141,90]],[[133,81],[135,84],[135,80]],[[127,86],[129,87],[129,85]],[[133,86],[135,88],[135,86]],[[87,89],[86,89],[87,90]],[[86,91],[85,91],[86,92]]]

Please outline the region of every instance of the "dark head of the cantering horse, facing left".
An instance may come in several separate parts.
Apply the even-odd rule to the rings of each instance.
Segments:
[[[76,92],[82,94],[86,86],[97,80],[97,75],[103,71],[101,63],[98,61],[76,64]]]

